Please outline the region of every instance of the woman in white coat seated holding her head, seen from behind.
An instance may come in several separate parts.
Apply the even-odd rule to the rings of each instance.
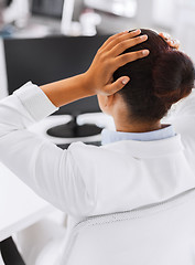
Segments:
[[[119,33],[86,73],[40,88],[28,83],[1,102],[0,159],[68,213],[69,227],[88,215],[167,200],[195,187],[193,86],[192,61],[156,33]],[[102,147],[76,142],[63,151],[25,130],[57,107],[95,94],[117,130],[102,131]],[[186,96],[173,125],[161,124]]]

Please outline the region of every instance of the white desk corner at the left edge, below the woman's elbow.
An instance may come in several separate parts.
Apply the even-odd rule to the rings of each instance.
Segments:
[[[54,210],[0,163],[0,242]]]

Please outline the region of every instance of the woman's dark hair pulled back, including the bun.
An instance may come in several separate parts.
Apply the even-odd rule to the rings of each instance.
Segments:
[[[194,87],[194,65],[191,59],[170,45],[155,32],[141,30],[148,41],[124,53],[148,49],[150,55],[126,64],[113,73],[116,81],[129,76],[121,94],[130,115],[140,121],[154,121],[166,115],[173,103],[191,94]]]

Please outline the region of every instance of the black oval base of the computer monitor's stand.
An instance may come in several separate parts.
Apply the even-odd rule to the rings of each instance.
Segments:
[[[102,128],[93,124],[78,125],[77,115],[72,115],[69,123],[52,127],[46,132],[53,137],[83,138],[99,135],[101,130]]]

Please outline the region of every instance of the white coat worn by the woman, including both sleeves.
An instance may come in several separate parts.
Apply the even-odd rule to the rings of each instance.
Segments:
[[[77,142],[62,150],[26,130],[56,109],[31,83],[2,99],[0,160],[39,195],[68,213],[72,225],[88,215],[137,209],[195,187],[194,92],[169,118],[176,136],[156,141],[102,147]]]

